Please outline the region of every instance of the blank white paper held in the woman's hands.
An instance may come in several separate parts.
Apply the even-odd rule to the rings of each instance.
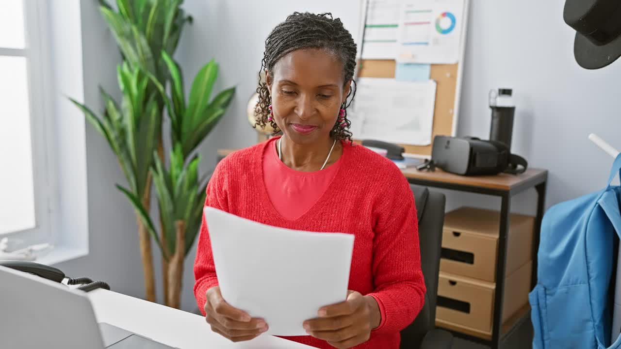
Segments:
[[[354,236],[289,230],[204,209],[225,301],[265,319],[268,334],[307,335],[302,323],[343,302]]]

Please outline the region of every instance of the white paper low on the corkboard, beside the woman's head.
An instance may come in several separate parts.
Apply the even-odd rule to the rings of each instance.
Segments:
[[[348,118],[356,139],[430,145],[436,83],[360,78]]]

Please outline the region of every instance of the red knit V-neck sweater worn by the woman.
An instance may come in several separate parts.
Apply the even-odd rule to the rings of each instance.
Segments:
[[[368,342],[356,348],[399,348],[399,331],[419,314],[425,293],[414,196],[406,178],[383,156],[342,142],[343,161],[327,191],[306,214],[288,220],[274,209],[265,188],[261,161],[266,144],[220,161],[207,186],[205,205],[276,227],[355,235],[348,288],[373,296],[384,314]],[[194,294],[204,311],[207,289],[218,284],[204,222],[194,276]],[[332,348],[310,336],[286,338]]]

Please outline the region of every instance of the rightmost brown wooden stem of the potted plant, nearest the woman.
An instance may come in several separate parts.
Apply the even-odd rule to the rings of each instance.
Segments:
[[[175,222],[175,254],[170,258],[168,266],[168,306],[181,307],[181,279],[183,279],[183,260],[186,247],[186,222]]]

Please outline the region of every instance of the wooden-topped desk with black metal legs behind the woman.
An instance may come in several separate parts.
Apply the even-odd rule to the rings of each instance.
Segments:
[[[229,155],[233,150],[218,150],[218,161]],[[504,295],[506,265],[507,265],[507,235],[509,233],[510,201],[515,194],[526,189],[537,190],[537,214],[535,216],[535,232],[533,233],[533,270],[531,276],[531,289],[537,284],[537,251],[539,248],[540,229],[545,209],[545,193],[548,181],[548,171],[529,168],[522,174],[501,173],[495,176],[460,176],[446,173],[440,169],[435,171],[418,171],[415,168],[402,170],[407,181],[411,184],[432,188],[450,189],[466,193],[477,193],[501,198],[501,221],[498,239],[498,253],[496,260],[496,294],[494,296],[494,319],[492,320],[491,340],[474,337],[466,333],[457,333],[456,336],[467,338],[473,342],[483,343],[496,349],[501,346],[505,338],[509,338],[520,325],[530,320],[530,309],[524,309],[519,315],[510,319],[509,323],[501,324],[502,319],[502,296]]]

